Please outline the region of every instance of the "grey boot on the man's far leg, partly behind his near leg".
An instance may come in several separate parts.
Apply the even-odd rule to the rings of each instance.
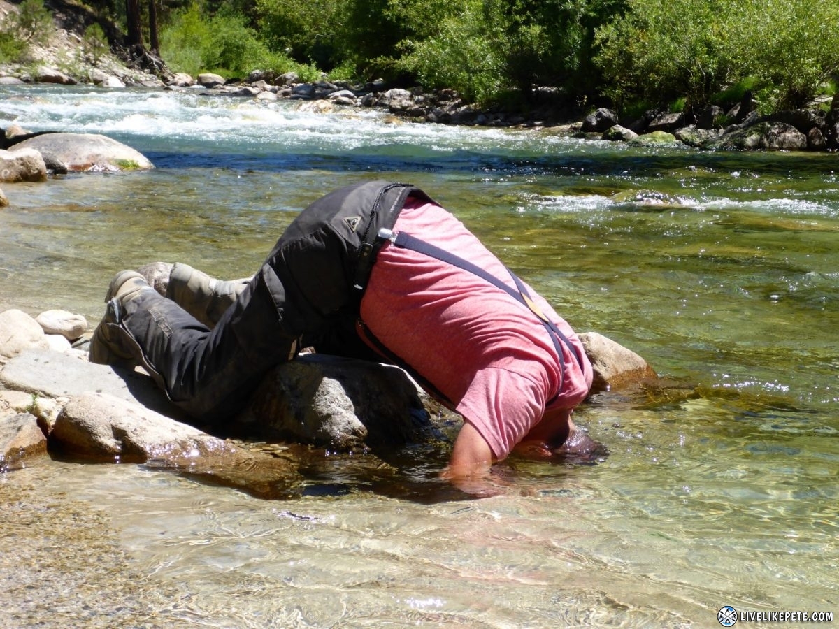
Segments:
[[[169,272],[166,297],[212,328],[250,281],[251,278],[216,279],[189,264],[175,263]]]

